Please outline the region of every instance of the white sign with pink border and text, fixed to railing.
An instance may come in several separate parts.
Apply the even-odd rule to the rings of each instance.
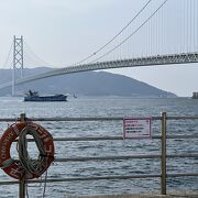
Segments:
[[[151,138],[151,118],[124,118],[123,139]]]

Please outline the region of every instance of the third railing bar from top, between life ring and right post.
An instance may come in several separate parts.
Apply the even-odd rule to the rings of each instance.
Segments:
[[[86,162],[86,161],[114,161],[130,158],[160,158],[161,155],[127,155],[127,156],[99,156],[99,157],[70,157],[55,158],[54,162]]]

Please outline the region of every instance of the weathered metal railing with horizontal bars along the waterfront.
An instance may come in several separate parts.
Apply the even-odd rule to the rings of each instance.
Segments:
[[[24,119],[23,117],[21,117]],[[18,119],[18,121],[21,120]],[[122,117],[117,118],[31,118],[31,121],[122,121]],[[194,135],[167,135],[167,121],[169,120],[198,120],[198,117],[167,117],[166,112],[163,112],[161,117],[152,117],[153,121],[161,121],[161,135],[153,135],[152,139],[161,141],[161,152],[160,154],[139,154],[139,155],[117,155],[117,156],[86,156],[86,157],[66,157],[58,158],[54,161],[59,163],[66,162],[88,162],[88,161],[116,161],[116,160],[131,160],[131,158],[160,158],[161,160],[161,174],[139,174],[139,175],[122,175],[122,176],[89,176],[89,177],[70,177],[70,178],[50,178],[50,179],[34,179],[34,180],[8,180],[0,182],[0,185],[14,185],[19,184],[19,195],[20,197],[25,197],[24,195],[24,183],[56,183],[56,182],[80,182],[80,180],[101,180],[101,179],[132,179],[132,178],[160,178],[161,179],[161,194],[166,195],[166,186],[168,177],[184,177],[184,176],[196,176],[198,173],[167,173],[167,158],[196,158],[197,154],[167,154],[167,139],[198,139],[198,134]],[[0,119],[0,122],[15,122],[15,119]],[[123,141],[122,135],[118,136],[82,136],[82,138],[54,138],[54,141]],[[31,140],[30,140],[31,141]]]

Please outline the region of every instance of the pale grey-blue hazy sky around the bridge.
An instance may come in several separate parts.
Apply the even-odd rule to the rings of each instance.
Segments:
[[[187,0],[169,1],[173,4],[184,1],[183,7],[185,7],[185,1]],[[193,6],[196,4],[196,0],[190,1],[193,1]],[[13,35],[16,37],[23,35],[24,42],[29,46],[24,48],[26,51],[24,55],[26,56],[34,52],[40,59],[53,67],[64,67],[77,63],[110,41],[146,2],[147,0],[0,0],[0,68],[7,67],[4,63],[13,42]],[[160,3],[158,0],[153,0],[151,10],[154,10],[157,3]],[[190,4],[190,7],[193,6]],[[169,11],[166,19],[167,25],[170,25],[170,19],[174,16],[170,8],[173,8],[174,12],[175,7],[169,6],[168,10],[167,4],[166,12]],[[166,18],[166,12],[162,11],[162,15],[165,15],[164,18]],[[145,12],[144,15],[146,16],[146,14]],[[189,13],[187,14],[189,15]],[[162,15],[158,15],[158,18]],[[142,16],[141,20],[144,21],[145,16]],[[177,21],[182,18],[179,12],[176,16],[178,18]],[[196,24],[196,14],[191,15],[190,19],[194,19],[193,24],[190,24],[193,26],[194,23]],[[139,21],[140,24],[141,20]],[[138,22],[136,24],[134,23],[134,28],[129,29],[125,36],[129,35],[130,31],[135,30],[135,25],[138,26]],[[170,44],[174,44],[174,42],[183,43],[185,40],[183,37],[187,34],[190,33],[193,38],[196,37],[197,26],[193,26],[191,30],[196,30],[191,32],[183,31],[184,35],[179,33],[182,29],[179,26],[176,28],[178,29],[177,32],[172,33],[172,35],[169,35],[172,32],[170,28],[168,28],[167,32],[161,32],[161,30],[165,29],[163,26],[157,28],[155,37],[162,35],[164,44],[162,40],[162,42],[154,45],[158,48],[161,45],[164,48],[166,47],[164,52],[167,53],[174,48]],[[146,30],[148,28],[145,28]],[[142,30],[142,35],[143,33],[145,34],[145,31]],[[123,37],[124,34],[122,37],[118,37],[117,42],[123,40]],[[136,36],[134,43],[129,42],[125,51],[130,47],[139,52],[142,48],[145,50],[146,41],[144,40],[146,40],[146,36],[145,38],[142,37]],[[193,41],[191,37],[186,42]],[[148,36],[147,38],[151,45],[153,38]],[[170,41],[170,44],[167,46],[166,40]],[[198,44],[197,38],[193,44],[195,45],[193,50],[198,50],[198,45],[195,43]],[[170,51],[167,50],[168,47]],[[176,47],[176,51],[178,47]],[[183,45],[180,44],[182,47]],[[145,51],[148,52],[148,47]],[[163,50],[160,48],[160,51]],[[173,50],[173,52],[175,51]],[[117,56],[114,58],[118,58]],[[37,65],[35,64],[35,66]],[[119,68],[108,69],[108,72],[135,78],[160,89],[172,91],[180,97],[190,97],[193,91],[198,91],[198,64]]]

